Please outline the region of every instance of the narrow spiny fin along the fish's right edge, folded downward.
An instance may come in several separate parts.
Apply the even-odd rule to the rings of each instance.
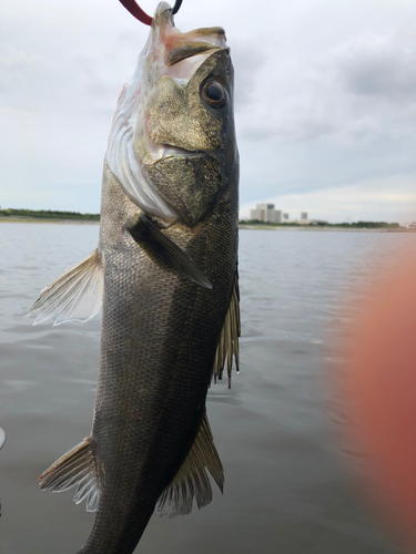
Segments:
[[[212,375],[214,381],[222,379],[225,359],[229,373],[229,389],[231,388],[231,370],[233,367],[233,356],[235,359],[236,371],[239,372],[239,337],[241,336],[240,324],[240,291],[239,291],[239,271],[235,271],[235,280],[231,295],[230,308],[226,312],[224,325],[221,331],[219,346],[214,359]]]

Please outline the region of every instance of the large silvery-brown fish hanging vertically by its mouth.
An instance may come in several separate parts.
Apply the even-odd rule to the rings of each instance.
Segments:
[[[95,512],[79,554],[130,554],[153,513],[212,500],[224,470],[206,396],[239,369],[239,151],[221,27],[182,33],[159,3],[118,101],[98,248],[49,285],[35,324],[102,306],[91,434],[40,478]]]

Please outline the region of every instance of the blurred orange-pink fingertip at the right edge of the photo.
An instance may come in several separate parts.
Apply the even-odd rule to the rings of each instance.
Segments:
[[[372,496],[383,519],[416,545],[416,250],[412,257],[367,304],[347,379]]]

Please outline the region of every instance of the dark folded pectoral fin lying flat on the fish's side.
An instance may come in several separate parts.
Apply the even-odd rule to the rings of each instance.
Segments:
[[[162,268],[175,271],[204,288],[212,285],[202,269],[173,240],[164,235],[148,216],[142,215],[130,230],[134,240]]]

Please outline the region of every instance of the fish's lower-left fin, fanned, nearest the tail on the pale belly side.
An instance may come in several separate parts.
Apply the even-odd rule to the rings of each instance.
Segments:
[[[87,512],[95,512],[99,506],[100,491],[89,438],[52,463],[39,479],[42,491],[63,492],[77,486],[73,501],[80,504],[87,499]]]

